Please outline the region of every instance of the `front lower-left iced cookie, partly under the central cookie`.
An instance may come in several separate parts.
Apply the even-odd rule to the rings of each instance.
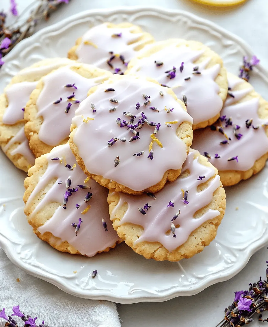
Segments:
[[[40,239],[88,257],[120,243],[109,218],[108,190],[87,178],[68,143],[38,158],[28,176],[25,214]]]

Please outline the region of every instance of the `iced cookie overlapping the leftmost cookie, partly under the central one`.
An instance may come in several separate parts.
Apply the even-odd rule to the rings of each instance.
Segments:
[[[38,82],[25,107],[25,135],[36,157],[68,142],[70,126],[80,101],[92,86],[112,76],[104,69],[74,63]]]

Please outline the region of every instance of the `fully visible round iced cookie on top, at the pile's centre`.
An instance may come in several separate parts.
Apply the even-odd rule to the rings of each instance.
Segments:
[[[114,75],[92,88],[76,110],[70,146],[83,171],[101,185],[131,194],[156,192],[179,176],[192,122],[170,89]]]

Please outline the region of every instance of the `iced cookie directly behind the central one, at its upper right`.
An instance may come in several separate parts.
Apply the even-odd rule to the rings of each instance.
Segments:
[[[219,55],[196,41],[169,39],[151,44],[127,66],[126,74],[155,78],[171,87],[193,117],[193,129],[214,123],[227,95],[226,69]]]

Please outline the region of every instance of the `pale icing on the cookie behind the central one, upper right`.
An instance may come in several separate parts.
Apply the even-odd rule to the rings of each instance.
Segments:
[[[161,43],[161,42],[159,42]],[[157,43],[146,46],[148,52]],[[210,58],[199,64],[194,62],[203,54],[203,50],[195,51],[185,45],[177,46],[177,41],[148,57],[138,59],[137,64],[127,73],[137,74],[140,76],[148,76],[155,78],[159,83],[165,84],[172,88],[177,97],[183,100],[183,95],[187,96],[187,112],[193,117],[193,124],[197,125],[216,116],[222,109],[223,102],[219,96],[220,88],[214,81],[220,71],[220,65],[216,64],[207,68]],[[142,52],[138,58],[142,56]],[[161,66],[156,66],[155,61],[162,61]],[[181,63],[183,70],[180,72]],[[193,74],[193,68],[198,66],[198,72],[201,74]],[[168,70],[176,67],[176,77],[168,77]],[[185,78],[190,77],[189,80]]]

